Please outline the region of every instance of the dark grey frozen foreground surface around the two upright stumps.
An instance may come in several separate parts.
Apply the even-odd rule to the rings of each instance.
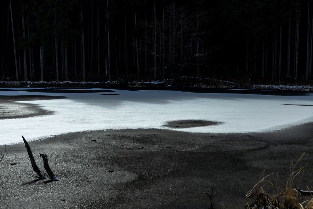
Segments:
[[[38,180],[24,144],[0,162],[4,208],[218,208],[251,203],[265,173],[285,186],[291,161],[309,164],[300,188],[313,190],[313,123],[274,133],[204,134],[159,129],[69,133],[30,141],[59,181]],[[27,140],[27,136],[24,136]],[[21,142],[22,142],[21,137]],[[3,150],[3,146],[0,146]],[[35,157],[47,176],[42,159]],[[16,163],[16,165],[10,165]],[[13,176],[12,176],[13,174]],[[275,174],[276,176],[276,174]],[[31,201],[29,201],[31,200]]]

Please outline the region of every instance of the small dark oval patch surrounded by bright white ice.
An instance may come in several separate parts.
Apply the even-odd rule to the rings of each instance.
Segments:
[[[165,126],[168,128],[193,128],[193,127],[220,125],[223,123],[224,122],[209,120],[176,120],[166,122]]]

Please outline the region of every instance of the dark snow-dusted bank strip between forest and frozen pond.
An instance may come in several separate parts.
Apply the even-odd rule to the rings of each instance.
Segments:
[[[234,83],[230,81],[198,78],[179,77],[163,81],[103,81],[103,82],[73,82],[73,81],[2,81],[0,87],[89,87],[89,88],[129,88],[129,87],[175,87],[175,88],[221,88],[221,89],[259,89],[259,90],[292,90],[313,91],[312,85],[251,85]]]

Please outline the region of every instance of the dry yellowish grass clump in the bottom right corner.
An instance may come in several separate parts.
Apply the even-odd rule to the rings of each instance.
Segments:
[[[301,158],[298,162],[290,168],[290,175],[287,179],[285,188],[278,187],[273,180],[267,180],[267,177],[272,176],[269,174],[262,178],[251,191],[248,192],[247,197],[252,194],[252,191],[256,188],[256,198],[251,204],[247,204],[248,209],[313,209],[313,196],[312,193],[308,196],[307,200],[300,200],[302,195],[295,188],[299,188],[299,184],[302,178],[302,174],[305,166],[301,166],[296,169],[297,165],[301,164]],[[264,176],[264,171],[263,175]],[[296,182],[296,184],[294,183]],[[277,181],[276,181],[277,182]],[[264,188],[268,188],[264,191]],[[302,199],[302,198],[301,198]],[[302,202],[301,202],[302,201]]]

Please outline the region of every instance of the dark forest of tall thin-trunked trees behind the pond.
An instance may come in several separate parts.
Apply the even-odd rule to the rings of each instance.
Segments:
[[[2,0],[10,81],[312,80],[312,0]]]

